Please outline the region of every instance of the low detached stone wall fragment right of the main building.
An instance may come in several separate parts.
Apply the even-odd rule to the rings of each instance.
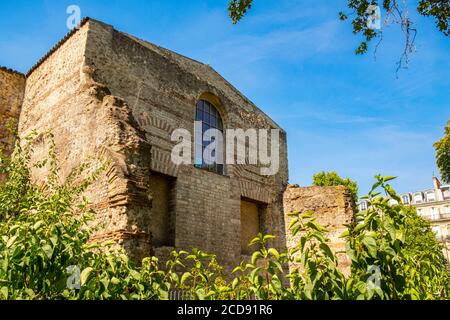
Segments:
[[[351,261],[345,255],[345,240],[339,236],[346,230],[345,224],[351,224],[355,215],[355,204],[351,193],[343,186],[339,187],[298,187],[290,185],[284,194],[284,213],[286,230],[293,212],[314,212],[317,222],[329,230],[330,248],[337,254],[339,266],[349,273]],[[294,247],[298,237],[287,231],[287,246]],[[295,265],[291,266],[295,267]]]

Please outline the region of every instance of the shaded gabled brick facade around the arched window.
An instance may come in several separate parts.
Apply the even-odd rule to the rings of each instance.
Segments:
[[[261,176],[257,166],[229,166],[226,176],[193,166],[174,166],[170,157],[174,146],[171,134],[184,128],[194,136],[195,106],[204,93],[219,98],[217,107],[225,127],[278,126],[209,66],[94,20],[89,23],[86,65],[96,82],[107,86],[132,108],[152,145],[151,169],[177,179],[177,248],[196,246],[219,253],[225,261],[238,260],[241,197],[270,203],[264,231],[277,235],[275,245],[284,247],[282,194],[288,176],[284,131],[281,168],[275,176]],[[145,212],[143,206],[142,210],[144,215],[151,215],[150,207]]]

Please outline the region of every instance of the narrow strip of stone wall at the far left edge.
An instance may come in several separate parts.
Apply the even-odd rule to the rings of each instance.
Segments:
[[[14,144],[8,123],[19,121],[20,109],[25,91],[25,76],[18,72],[0,67],[0,149],[10,156]],[[13,128],[11,128],[13,129]],[[0,179],[3,177],[0,174]]]

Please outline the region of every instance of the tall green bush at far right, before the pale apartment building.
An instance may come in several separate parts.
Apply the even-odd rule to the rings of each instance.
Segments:
[[[359,213],[349,228],[347,253],[352,259],[349,281],[358,288],[358,299],[441,299],[448,297],[449,274],[442,247],[429,225],[415,209],[392,206],[389,197],[401,203],[388,182],[393,177],[376,177],[378,182],[366,197],[368,210]],[[381,196],[381,188],[385,195]],[[416,237],[422,233],[421,237]],[[420,243],[420,241],[425,241]],[[427,247],[424,247],[427,245]],[[419,252],[420,250],[420,252]],[[367,285],[376,267],[380,285]]]

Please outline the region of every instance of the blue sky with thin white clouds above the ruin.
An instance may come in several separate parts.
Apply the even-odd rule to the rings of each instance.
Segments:
[[[67,32],[66,8],[211,64],[288,133],[290,181],[334,170],[368,192],[375,174],[399,192],[431,187],[433,142],[450,118],[450,38],[413,15],[417,52],[398,78],[395,27],[374,59],[338,20],[345,0],[256,0],[237,26],[228,0],[0,0],[0,65],[26,72]]]

